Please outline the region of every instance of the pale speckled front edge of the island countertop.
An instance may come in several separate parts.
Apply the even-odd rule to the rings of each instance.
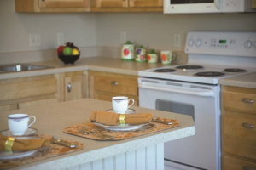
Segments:
[[[154,144],[161,144],[164,142],[172,141],[175,139],[181,139],[185,137],[189,137],[191,135],[195,135],[195,126],[192,127],[184,127],[182,129],[173,130],[168,133],[160,133],[154,136],[150,136],[144,139],[137,139],[130,142],[126,142],[124,144],[116,144],[113,146],[105,147],[99,150],[92,150],[89,152],[85,152],[79,155],[73,156],[66,156],[54,161],[48,161],[44,163],[40,163],[38,165],[31,165],[31,167],[21,167],[20,169],[27,169],[27,170],[45,170],[45,169],[65,169],[68,167],[61,166],[63,164],[69,167],[74,167],[79,164],[84,164],[90,161],[100,160],[102,158],[107,158],[109,156],[118,155],[121,153],[125,153],[131,150],[138,150],[141,148],[148,147]],[[85,144],[86,146],[86,144]],[[65,163],[64,163],[65,162]],[[38,162],[36,162],[38,163]],[[59,167],[56,167],[56,166]]]

